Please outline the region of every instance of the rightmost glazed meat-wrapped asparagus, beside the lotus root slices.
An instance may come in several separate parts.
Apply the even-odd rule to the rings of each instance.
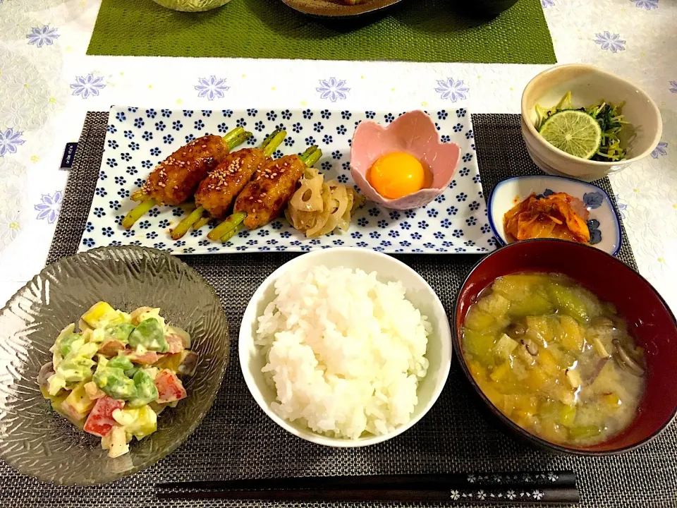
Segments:
[[[251,181],[238,195],[233,214],[209,231],[207,237],[225,242],[243,226],[255,229],[271,222],[279,216],[296,191],[296,184],[303,176],[303,170],[315,164],[320,157],[322,150],[312,146],[301,155],[286,155],[257,169]]]

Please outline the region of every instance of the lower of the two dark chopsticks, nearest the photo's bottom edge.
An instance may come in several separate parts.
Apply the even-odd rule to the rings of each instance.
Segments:
[[[501,490],[206,490],[190,492],[157,492],[162,500],[261,500],[261,501],[385,501],[444,502],[447,504],[576,504],[580,501],[575,487],[533,487]]]

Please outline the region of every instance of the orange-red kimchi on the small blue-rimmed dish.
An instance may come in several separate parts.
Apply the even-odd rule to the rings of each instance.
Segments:
[[[510,241],[560,238],[589,243],[589,216],[583,202],[567,193],[532,193],[505,214],[503,224]]]

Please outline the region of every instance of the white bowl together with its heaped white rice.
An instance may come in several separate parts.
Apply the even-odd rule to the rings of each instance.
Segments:
[[[329,248],[273,272],[240,327],[240,367],[288,432],[333,447],[389,440],[433,406],[451,329],[419,274],[389,255]]]

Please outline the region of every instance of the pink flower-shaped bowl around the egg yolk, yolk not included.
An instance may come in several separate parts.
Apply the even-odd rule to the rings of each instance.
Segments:
[[[377,193],[367,181],[367,171],[383,155],[408,152],[427,164],[432,172],[429,187],[388,199]],[[363,121],[353,133],[350,148],[350,175],[362,194],[386,208],[408,210],[422,207],[444,192],[458,168],[461,149],[456,143],[442,143],[434,121],[423,111],[410,111],[399,116],[389,126]]]

